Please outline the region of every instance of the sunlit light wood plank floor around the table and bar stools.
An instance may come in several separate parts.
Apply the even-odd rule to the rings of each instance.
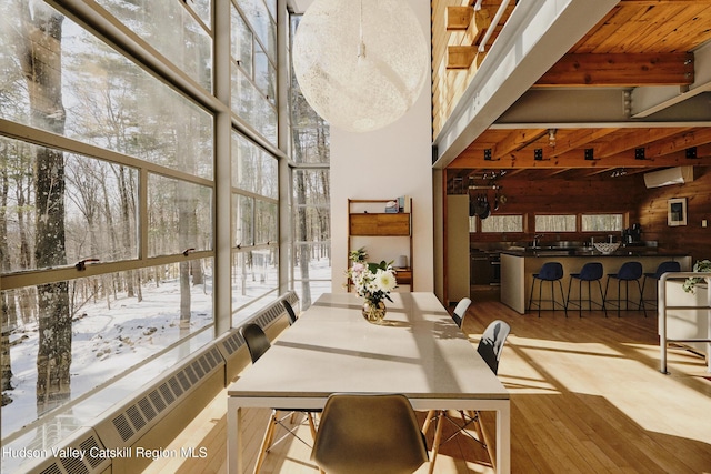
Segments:
[[[472,300],[463,324],[472,344],[494,319],[512,327],[499,377],[511,393],[513,473],[711,473],[711,374],[702,357],[683,350],[670,351],[669,375],[659,372],[654,316],[628,311],[605,319],[593,311],[565,319],[544,311],[539,319],[500,304],[495,290]],[[204,458],[159,460],[146,472],[226,473],[226,406],[222,392],[167,446],[204,446]],[[268,415],[248,413],[252,464]],[[491,414],[484,425],[493,434]],[[310,441],[306,425],[299,433]],[[269,453],[262,473],[318,473],[309,453],[290,436]],[[441,447],[434,472],[493,471],[485,450],[458,435]]]

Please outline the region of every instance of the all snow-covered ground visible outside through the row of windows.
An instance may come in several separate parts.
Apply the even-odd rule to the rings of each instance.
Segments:
[[[162,371],[210,343],[213,340],[212,276],[209,272],[206,276],[206,284],[191,286],[189,327],[180,326],[180,283],[177,279],[161,281],[158,286],[144,284],[141,302],[119,295],[118,300],[111,300],[110,309],[106,301],[83,305],[81,316],[72,324],[71,364],[71,397],[83,396],[83,400],[69,410],[60,409],[57,415],[42,417],[39,423],[36,409],[38,327],[37,323],[18,327],[11,335],[14,390],[6,392],[12,403],[2,407],[3,447],[48,450],[77,428],[91,426],[92,420],[110,410],[113,403],[132,396]],[[277,288],[274,269],[270,268],[264,279],[259,274],[254,276],[250,274],[248,279],[232,282],[232,306],[242,307],[232,316],[233,326],[258,311],[249,306],[249,302],[257,300],[256,306],[268,304],[269,297],[259,300],[258,296],[271,294]],[[300,276],[294,271],[294,290],[304,302]],[[330,261],[312,261],[309,278],[312,279],[311,301],[330,292]],[[173,346],[191,334],[194,336],[188,346]],[[122,377],[127,373],[129,376]],[[102,386],[109,386],[109,390],[93,391]],[[30,428],[28,424],[34,426]],[[26,426],[28,428],[23,430]],[[23,464],[32,461],[3,456],[0,472],[26,471]]]

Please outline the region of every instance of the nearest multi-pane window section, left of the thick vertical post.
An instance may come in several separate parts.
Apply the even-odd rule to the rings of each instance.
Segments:
[[[207,0],[100,3],[209,97]],[[99,415],[56,413],[214,323],[213,111],[82,23],[0,2],[3,445],[49,447]]]

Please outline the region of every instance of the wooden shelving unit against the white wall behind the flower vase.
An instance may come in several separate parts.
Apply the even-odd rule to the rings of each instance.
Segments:
[[[362,199],[349,199],[348,200],[348,254],[356,250],[353,245],[353,238],[357,236],[371,236],[371,238],[408,238],[409,241],[409,254],[408,266],[395,268],[398,285],[409,285],[412,291],[414,281],[413,264],[412,264],[412,198],[405,198],[404,208],[409,212],[372,212],[372,211],[356,211],[354,208],[359,205],[362,208],[378,206],[382,210],[385,209],[385,204],[393,200],[362,200]],[[393,258],[397,255],[393,255]],[[350,260],[347,266],[350,266]],[[350,291],[350,283],[348,291]]]

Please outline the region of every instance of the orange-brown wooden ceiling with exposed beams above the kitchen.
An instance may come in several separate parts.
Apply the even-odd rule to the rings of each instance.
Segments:
[[[623,100],[615,102],[619,110],[614,110],[623,120],[610,121],[612,127],[605,127],[604,120],[583,123],[587,113],[577,111],[594,107],[578,101],[584,93],[610,94],[615,90],[631,101],[637,88],[677,88],[680,99],[670,103],[684,107],[684,92],[692,84],[698,87],[694,52],[709,42],[711,0],[620,1],[539,79],[527,97],[447,167],[448,177],[467,180],[509,170],[508,175],[524,173],[532,179],[577,179],[622,169],[635,173],[680,164],[711,164],[711,128],[694,127],[694,120],[711,120],[709,85],[699,89],[702,92],[685,94],[694,101],[689,108],[694,109],[694,120],[683,114],[681,120],[674,120],[679,114],[673,113],[669,114],[672,119],[658,123],[644,120],[659,108],[647,113],[637,111],[639,120],[634,120],[632,104]],[[703,58],[711,59],[711,54]],[[538,109],[535,113],[530,112],[533,108]],[[580,118],[567,123],[568,117],[575,115]]]

